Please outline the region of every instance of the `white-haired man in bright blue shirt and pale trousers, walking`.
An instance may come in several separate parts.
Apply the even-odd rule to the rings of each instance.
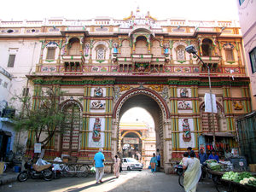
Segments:
[[[96,169],[96,183],[103,183],[102,182],[102,176],[104,174],[104,154],[102,154],[103,149],[100,148],[99,152],[95,154],[94,159],[93,159],[93,166],[95,166]]]

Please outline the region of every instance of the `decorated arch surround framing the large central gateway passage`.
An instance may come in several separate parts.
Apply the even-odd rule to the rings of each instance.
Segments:
[[[122,115],[130,108],[144,108],[151,114],[154,119],[155,128],[155,151],[159,149],[157,153],[161,154],[161,165],[165,168],[167,172],[169,160],[172,157],[172,130],[170,125],[170,113],[167,108],[164,99],[154,92],[154,90],[143,89],[133,89],[127,91],[123,96],[119,98],[119,101],[115,104],[113,109],[113,137],[117,137],[116,143],[113,142],[113,154],[116,154],[121,150],[120,141],[122,136],[119,135],[119,120]],[[142,134],[142,156],[145,157],[145,151],[143,148],[143,143],[146,134]],[[114,147],[115,145],[115,147]]]

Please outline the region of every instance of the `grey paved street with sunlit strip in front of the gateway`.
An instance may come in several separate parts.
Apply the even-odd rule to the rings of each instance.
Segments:
[[[177,175],[166,175],[162,172],[151,173],[150,170],[143,170],[143,172],[122,172],[119,178],[114,178],[113,174],[106,174],[102,181],[104,183],[95,184],[95,176],[89,177],[61,177],[50,182],[44,179],[33,180],[29,178],[24,183],[15,182],[9,187],[3,185],[0,187],[2,191],[24,191],[24,192],[41,192],[41,191],[65,191],[65,192],[79,192],[79,191],[175,191],[183,192],[177,182]],[[216,189],[211,180],[200,183],[197,192],[215,192]]]

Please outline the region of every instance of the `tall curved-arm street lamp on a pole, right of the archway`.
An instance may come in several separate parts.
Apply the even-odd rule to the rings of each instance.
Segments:
[[[189,54],[195,54],[197,58],[202,62],[203,67],[207,67],[208,69],[208,79],[209,79],[209,88],[210,88],[210,97],[211,97],[211,105],[212,105],[212,137],[213,137],[213,148],[215,149],[215,128],[214,128],[214,115],[213,115],[213,101],[212,101],[212,86],[211,86],[211,77],[210,77],[210,67],[206,65],[204,61],[201,60],[200,56],[196,54],[196,49],[193,45],[189,45],[185,48],[185,50]]]

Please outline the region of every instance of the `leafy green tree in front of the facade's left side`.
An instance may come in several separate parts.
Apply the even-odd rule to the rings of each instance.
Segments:
[[[19,113],[15,116],[15,131],[32,131],[35,142],[45,148],[56,132],[61,134],[71,130],[71,121],[78,118],[61,108],[59,98],[63,95],[59,88],[36,87],[34,96],[13,96],[13,107],[20,102]],[[19,106],[16,105],[15,106]]]

